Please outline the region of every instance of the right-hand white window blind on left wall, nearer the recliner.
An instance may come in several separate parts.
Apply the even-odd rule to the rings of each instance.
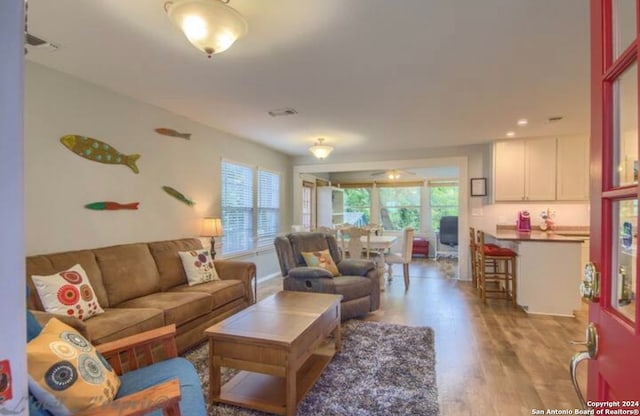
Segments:
[[[273,244],[280,232],[280,175],[258,170],[257,245]]]

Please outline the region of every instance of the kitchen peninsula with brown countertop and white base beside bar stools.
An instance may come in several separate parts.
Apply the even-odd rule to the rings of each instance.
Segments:
[[[513,226],[485,231],[488,242],[513,249],[517,259],[518,305],[529,314],[573,316],[580,309],[588,227],[516,232]]]

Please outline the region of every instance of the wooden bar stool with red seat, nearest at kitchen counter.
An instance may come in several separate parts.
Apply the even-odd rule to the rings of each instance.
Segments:
[[[487,302],[488,298],[510,300],[515,308],[516,299],[516,259],[518,255],[511,249],[485,244],[484,232],[478,231],[478,285],[480,298]],[[488,270],[491,267],[493,270]],[[489,288],[489,284],[497,283],[497,288]],[[496,294],[497,296],[488,296]]]

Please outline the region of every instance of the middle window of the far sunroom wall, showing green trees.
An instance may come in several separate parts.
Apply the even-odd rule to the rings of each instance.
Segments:
[[[420,229],[420,186],[380,188],[380,219],[385,230]]]

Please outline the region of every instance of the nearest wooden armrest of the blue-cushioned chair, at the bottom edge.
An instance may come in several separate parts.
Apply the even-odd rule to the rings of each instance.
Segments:
[[[156,409],[167,412],[163,414],[180,415],[180,398],[180,381],[173,379],[74,416],[138,416]]]

